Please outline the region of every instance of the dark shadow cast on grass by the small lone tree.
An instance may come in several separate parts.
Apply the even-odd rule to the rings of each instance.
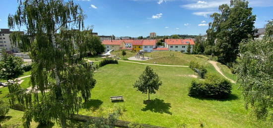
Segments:
[[[142,108],[142,111],[147,111],[150,110],[155,113],[166,113],[172,115],[170,112],[170,103],[165,103],[164,100],[162,99],[152,99],[152,100],[144,100],[143,104],[146,104],[145,108]]]

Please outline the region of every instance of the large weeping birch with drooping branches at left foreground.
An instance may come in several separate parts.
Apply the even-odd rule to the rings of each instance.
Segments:
[[[90,40],[88,30],[79,31],[84,18],[72,0],[18,0],[17,11],[9,14],[9,28],[25,27],[30,42],[33,89],[20,101],[27,108],[24,127],[33,120],[55,120],[66,128],[67,119],[90,98],[96,81],[91,65],[83,60]]]

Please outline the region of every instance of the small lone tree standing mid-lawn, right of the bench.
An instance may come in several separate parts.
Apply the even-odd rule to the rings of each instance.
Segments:
[[[150,100],[150,93],[154,94],[160,85],[162,85],[162,82],[159,80],[158,75],[153,72],[151,67],[147,66],[133,86],[144,94],[148,93],[148,100]]]

